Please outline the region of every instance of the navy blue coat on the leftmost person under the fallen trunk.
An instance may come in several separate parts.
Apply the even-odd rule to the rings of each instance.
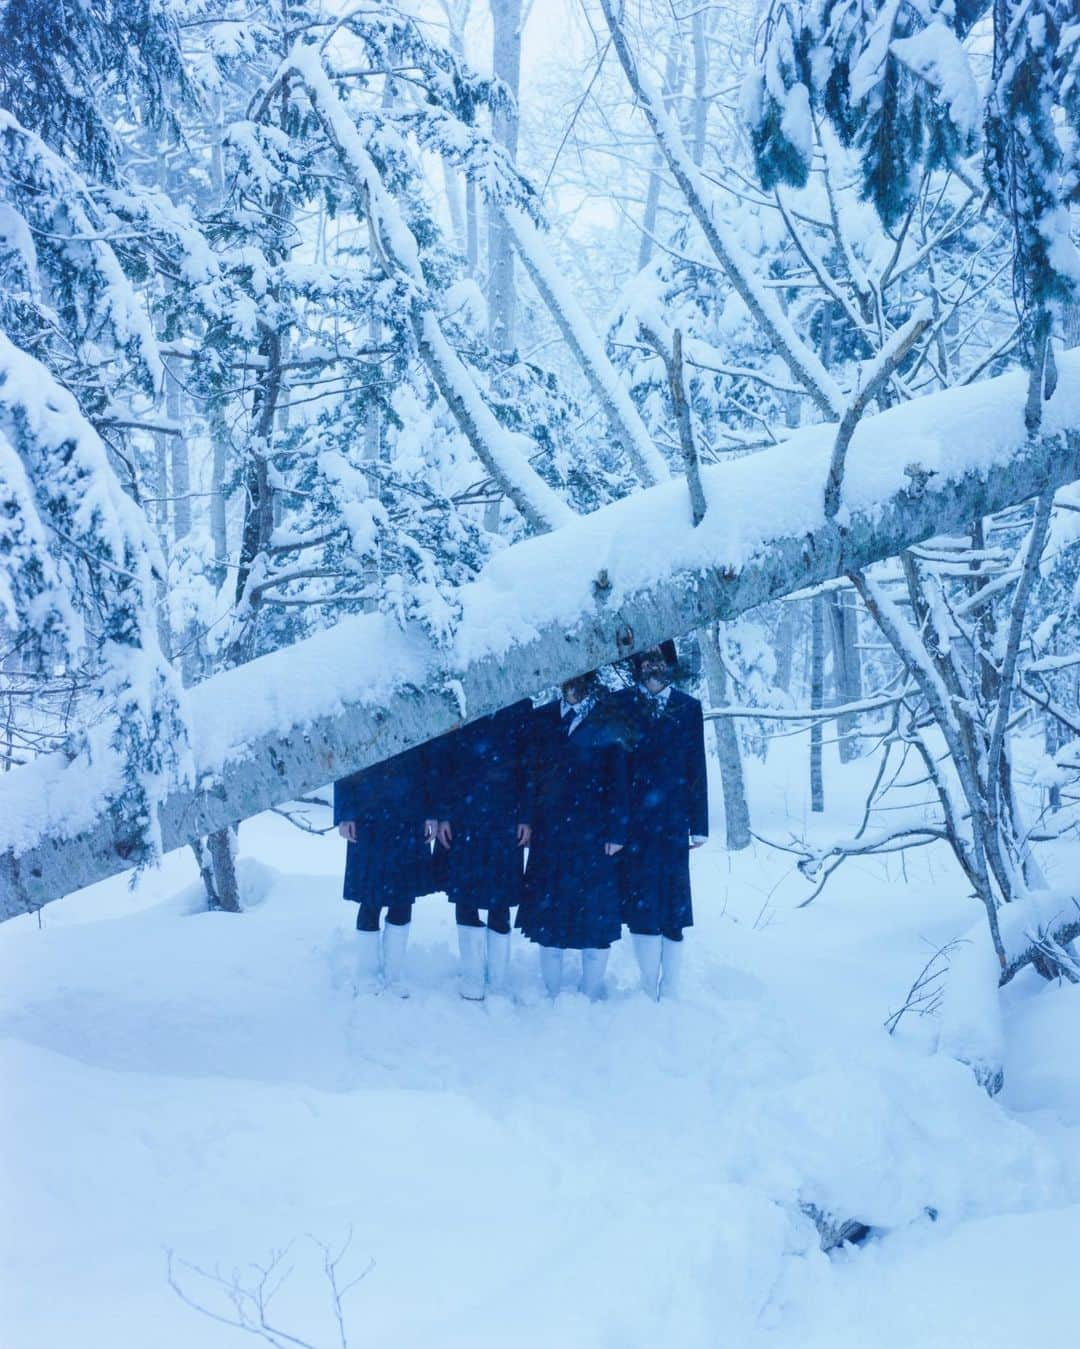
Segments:
[[[423,842],[427,776],[421,747],[334,782],[334,824],[356,822],[356,842],[345,850],[347,900],[400,904],[434,889]]]

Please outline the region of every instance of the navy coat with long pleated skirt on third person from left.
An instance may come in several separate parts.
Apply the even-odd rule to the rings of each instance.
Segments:
[[[558,700],[533,714],[533,842],[518,927],[541,946],[587,950],[622,934],[618,857],[627,838],[627,755],[595,708],[573,735]]]

